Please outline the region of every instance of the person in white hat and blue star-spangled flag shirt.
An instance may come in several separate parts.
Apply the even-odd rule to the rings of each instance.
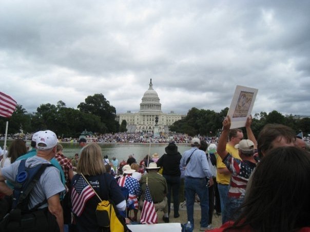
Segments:
[[[123,177],[118,180],[118,184],[121,187],[126,187],[129,191],[127,207],[128,209],[133,209],[134,216],[131,218],[131,220],[136,222],[139,209],[138,197],[141,195],[141,187],[139,181],[132,178],[131,176],[135,170],[131,169],[128,164],[126,164],[122,169]]]

